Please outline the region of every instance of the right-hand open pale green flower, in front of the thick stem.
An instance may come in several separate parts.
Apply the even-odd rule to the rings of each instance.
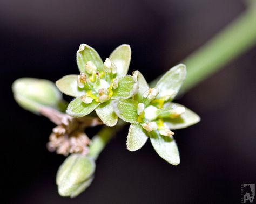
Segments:
[[[139,71],[133,78],[139,83],[139,89],[133,99],[115,101],[116,114],[130,125],[127,148],[130,151],[140,149],[150,138],[154,150],[170,164],[180,163],[179,151],[171,130],[186,128],[200,121],[200,117],[190,109],[171,101],[177,95],[186,77],[183,64],[171,68],[157,83],[149,88]]]

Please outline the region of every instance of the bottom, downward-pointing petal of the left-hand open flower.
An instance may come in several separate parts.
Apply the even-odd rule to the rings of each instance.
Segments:
[[[118,117],[110,100],[100,104],[95,111],[105,125],[112,127],[117,124]]]

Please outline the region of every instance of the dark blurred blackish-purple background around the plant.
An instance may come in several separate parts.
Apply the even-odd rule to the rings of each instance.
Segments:
[[[45,147],[54,125],[18,107],[11,83],[78,74],[81,43],[103,59],[130,44],[130,73],[139,69],[151,81],[244,9],[240,0],[1,0],[3,203],[240,203],[241,184],[256,181],[255,47],[176,100],[201,117],[175,131],[180,165],[167,164],[150,143],[127,151],[126,128],[97,160],[92,185],[75,199],[57,193],[64,157]]]

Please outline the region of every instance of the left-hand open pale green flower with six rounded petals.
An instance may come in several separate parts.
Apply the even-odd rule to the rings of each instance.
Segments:
[[[56,82],[66,95],[76,97],[66,112],[73,117],[83,117],[96,110],[107,125],[117,123],[111,101],[128,99],[138,89],[132,76],[126,76],[131,61],[129,45],[120,45],[103,63],[99,54],[90,46],[81,44],[77,51],[79,75],[67,75]]]

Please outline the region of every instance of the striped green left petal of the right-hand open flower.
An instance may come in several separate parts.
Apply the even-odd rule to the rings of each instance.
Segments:
[[[112,102],[114,111],[119,118],[129,123],[138,123],[137,106],[138,102],[132,99],[120,99]]]

